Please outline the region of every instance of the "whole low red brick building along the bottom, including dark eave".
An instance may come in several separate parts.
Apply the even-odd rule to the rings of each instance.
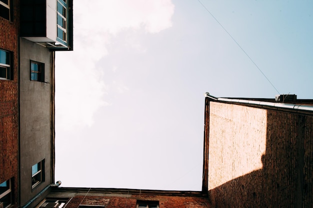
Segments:
[[[49,204],[50,203],[50,204]],[[49,204],[49,205],[48,205]],[[54,188],[36,208],[209,208],[202,192]]]

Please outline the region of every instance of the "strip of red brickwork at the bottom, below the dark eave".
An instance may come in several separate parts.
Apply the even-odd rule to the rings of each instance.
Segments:
[[[83,200],[83,201],[82,201]],[[159,208],[210,208],[208,199],[201,197],[177,197],[156,195],[129,195],[128,197],[91,197],[78,196],[71,199],[66,208],[81,205],[104,205],[105,208],[135,208],[136,200],[158,201]]]

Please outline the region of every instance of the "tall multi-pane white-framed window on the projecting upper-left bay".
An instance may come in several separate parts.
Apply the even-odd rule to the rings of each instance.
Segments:
[[[66,0],[57,0],[57,31],[56,36],[62,41],[66,42],[66,13],[67,5]]]

